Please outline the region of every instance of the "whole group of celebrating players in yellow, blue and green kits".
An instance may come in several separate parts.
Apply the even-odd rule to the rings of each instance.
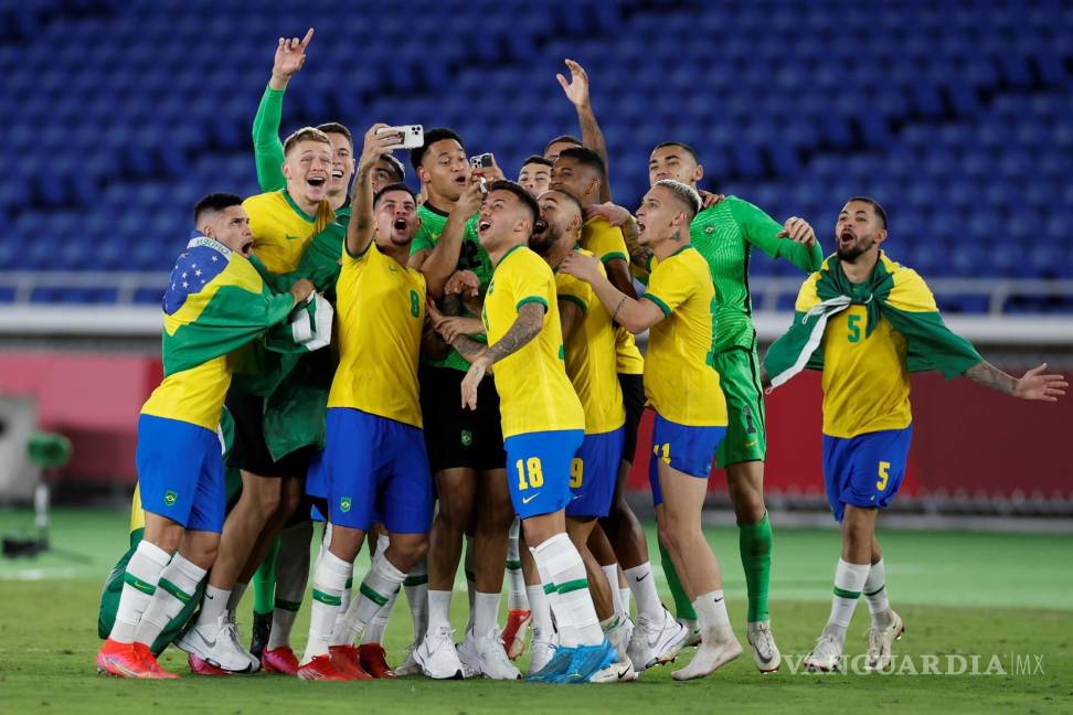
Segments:
[[[842,529],[831,615],[806,665],[838,666],[863,593],[868,664],[883,669],[904,626],[886,597],[874,523],[905,471],[909,372],[941,370],[1041,401],[1064,394],[1062,377],[1045,366],[1011,377],[949,333],[920,276],[880,250],[886,215],[871,199],[846,203],[825,259],[807,222],[778,224],[745,201],[699,192],[698,157],[667,141],[650,152],[651,188],[636,212],[613,204],[588,78],[571,61],[570,79],[557,79],[582,139],[553,139],[517,183],[492,162],[475,169],[446,128],[410,151],[419,194],[404,183],[392,151],[401,137],[386,125],[369,129],[360,152],[334,122],[280,143],[284,92],[311,36],[277,46],[254,124],[264,193],[199,202],[164,296],[166,376],[139,420],[145,534],[98,669],[176,677],[156,657],[185,612],[176,643],[201,674],[517,680],[512,660],[531,627],[528,681],[635,680],[693,645],[673,677],[708,675],[743,650],[701,529],[714,459],[740,530],[746,640],[756,668],[774,672],[763,391],[804,367],[824,371],[825,479]],[[747,288],[753,247],[808,275],[795,323],[764,364]],[[253,299],[229,310],[240,290]],[[318,296],[334,308],[330,348],[291,360],[280,380],[262,381],[268,387],[240,380],[258,370],[247,349]],[[200,362],[174,339],[199,320],[215,337]],[[642,356],[634,337],[645,332]],[[646,407],[674,615],[622,489]],[[233,438],[217,438],[229,419]],[[241,470],[231,504],[221,442]],[[299,659],[290,631],[312,520],[326,523]],[[371,566],[352,593],[362,543]],[[456,644],[449,611],[464,543],[469,622]],[[235,611],[266,572],[275,598],[257,609],[247,650]],[[400,589],[414,642],[392,669],[382,640]]]

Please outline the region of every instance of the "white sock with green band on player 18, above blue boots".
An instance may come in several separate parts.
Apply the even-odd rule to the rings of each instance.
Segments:
[[[604,631],[599,628],[593,597],[588,593],[585,564],[566,534],[555,534],[530,549],[541,574],[546,574],[559,593],[552,601],[561,642],[566,648],[599,645]]]

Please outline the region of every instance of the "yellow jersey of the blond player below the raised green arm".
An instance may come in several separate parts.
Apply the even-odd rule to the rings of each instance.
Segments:
[[[317,215],[307,214],[286,189],[249,196],[242,207],[249,214],[254,254],[274,274],[297,268],[306,246],[336,216],[327,199],[320,202]]]

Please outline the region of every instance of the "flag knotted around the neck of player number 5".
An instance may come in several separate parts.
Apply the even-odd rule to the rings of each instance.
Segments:
[[[889,320],[905,338],[910,372],[935,370],[950,378],[984,360],[971,343],[946,327],[932,291],[915,270],[880,252],[869,279],[852,284],[838,257],[830,256],[801,286],[793,324],[764,355],[772,387],[806,367],[822,370],[820,345],[827,321],[851,305],[864,306],[865,337],[872,334],[880,320]]]

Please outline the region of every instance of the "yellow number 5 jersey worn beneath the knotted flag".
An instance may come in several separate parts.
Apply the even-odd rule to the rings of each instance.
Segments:
[[[816,295],[819,276],[812,274],[801,286],[796,310],[807,312],[819,302]],[[922,287],[920,292],[913,307],[937,310],[931,291]],[[867,328],[864,306],[850,306],[827,321],[820,343],[825,435],[856,437],[882,429],[903,429],[913,420],[905,338],[889,320],[880,320],[870,335]]]

